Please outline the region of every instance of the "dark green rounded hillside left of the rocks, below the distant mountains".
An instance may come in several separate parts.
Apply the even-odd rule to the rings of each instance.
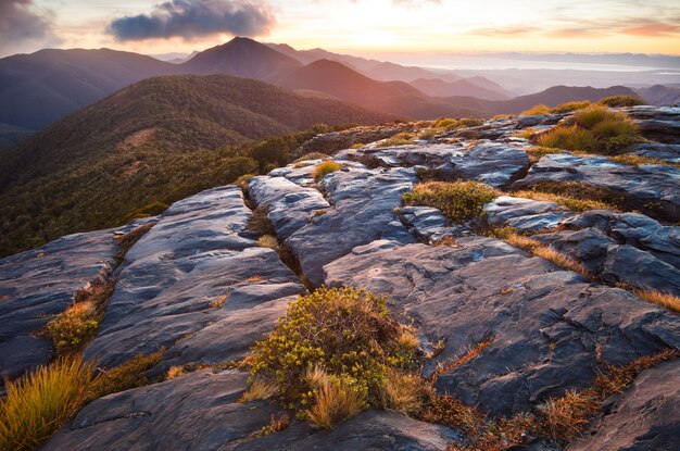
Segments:
[[[201,189],[285,164],[314,135],[297,131],[314,124],[387,120],[224,75],[140,82],[0,154],[0,254],[156,214]]]

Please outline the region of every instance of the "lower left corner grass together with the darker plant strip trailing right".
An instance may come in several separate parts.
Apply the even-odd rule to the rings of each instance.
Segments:
[[[35,450],[88,402],[148,384],[144,372],[155,366],[164,350],[138,355],[114,368],[98,368],[79,354],[59,358],[26,376],[5,381],[0,400],[0,449]]]

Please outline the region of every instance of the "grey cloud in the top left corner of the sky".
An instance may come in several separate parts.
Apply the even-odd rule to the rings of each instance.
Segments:
[[[33,0],[0,0],[0,50],[58,41],[51,14],[39,14],[32,7]]]

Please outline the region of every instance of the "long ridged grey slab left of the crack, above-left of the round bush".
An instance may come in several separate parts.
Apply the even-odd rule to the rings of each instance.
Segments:
[[[250,216],[234,186],[173,204],[127,253],[86,359],[119,365],[137,354],[172,348],[235,312],[302,292],[304,287],[276,252],[256,247],[249,237]],[[224,305],[214,308],[221,297],[226,297]],[[203,344],[200,338],[190,343]],[[213,360],[242,354],[242,349],[211,350],[212,356],[207,350],[187,350],[185,343],[180,353]]]

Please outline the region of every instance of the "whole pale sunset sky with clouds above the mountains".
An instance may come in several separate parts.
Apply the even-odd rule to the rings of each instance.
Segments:
[[[357,55],[680,54],[678,0],[0,0],[0,57],[191,52],[234,36]]]

